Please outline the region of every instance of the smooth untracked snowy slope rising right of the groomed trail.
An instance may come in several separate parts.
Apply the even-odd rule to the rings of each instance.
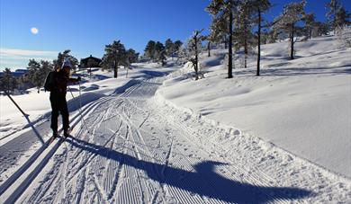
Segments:
[[[262,46],[261,76],[251,57],[233,79],[219,65],[223,50],[214,50],[214,57],[202,57],[205,78],[170,78],[157,93],[351,177],[351,49],[339,49],[333,36],[295,47],[297,57],[289,60],[288,42]]]

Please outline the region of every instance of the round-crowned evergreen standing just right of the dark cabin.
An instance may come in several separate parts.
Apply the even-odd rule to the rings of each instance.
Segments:
[[[117,78],[118,68],[123,65],[126,56],[124,45],[121,44],[121,40],[114,40],[112,44],[105,46],[104,51],[102,59],[103,69],[113,70],[113,77]]]

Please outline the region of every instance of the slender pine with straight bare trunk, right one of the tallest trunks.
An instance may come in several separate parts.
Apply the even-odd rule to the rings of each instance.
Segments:
[[[252,5],[253,5],[253,8],[255,8],[256,10],[256,13],[255,13],[256,22],[257,22],[257,74],[256,75],[259,75],[260,61],[261,61],[261,30],[262,30],[262,27],[266,27],[266,26],[262,26],[262,22],[263,22],[262,13],[266,13],[266,11],[268,11],[272,5],[269,2],[269,0],[253,0]]]

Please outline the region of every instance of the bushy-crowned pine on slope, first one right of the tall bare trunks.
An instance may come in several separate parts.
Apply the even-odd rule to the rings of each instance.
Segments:
[[[290,58],[293,59],[294,34],[296,31],[296,23],[302,21],[304,15],[305,0],[300,3],[290,3],[284,6],[284,12],[275,21],[275,30],[281,30],[289,33],[291,47]]]

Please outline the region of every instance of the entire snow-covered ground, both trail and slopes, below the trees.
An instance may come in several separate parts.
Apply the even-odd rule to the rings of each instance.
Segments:
[[[34,127],[0,96],[0,202],[350,202],[351,50],[337,44],[297,42],[295,60],[263,46],[262,76],[250,58],[226,79],[221,49],[199,81],[187,65],[94,71],[81,100],[67,93],[74,137],[49,146],[49,93],[14,96]]]

